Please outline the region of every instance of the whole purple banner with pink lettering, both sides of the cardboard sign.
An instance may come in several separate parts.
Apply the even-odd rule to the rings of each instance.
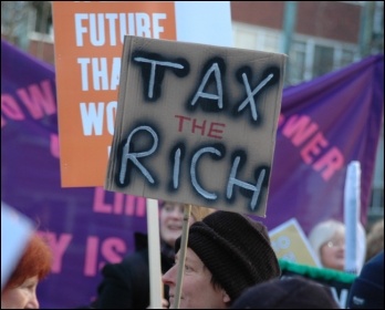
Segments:
[[[103,188],[61,188],[54,68],[1,41],[1,196],[35,220],[55,254],[38,287],[42,308],[89,304],[100,268],[134,250],[145,199]],[[305,232],[343,220],[346,167],[362,169],[366,224],[384,106],[384,56],[283,92],[268,199],[269,229],[295,217]],[[74,149],[74,152],[76,152]]]

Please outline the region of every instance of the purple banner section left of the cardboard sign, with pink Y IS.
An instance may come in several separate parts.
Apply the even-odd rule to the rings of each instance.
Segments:
[[[52,273],[38,287],[48,309],[90,304],[101,267],[146,231],[144,198],[61,187],[54,78],[53,66],[1,40],[1,199],[51,240]]]

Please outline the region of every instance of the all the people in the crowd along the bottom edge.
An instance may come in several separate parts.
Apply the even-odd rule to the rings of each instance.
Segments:
[[[165,309],[384,308],[383,219],[358,237],[361,249],[366,249],[361,254],[362,269],[351,286],[346,307],[341,307],[330,287],[301,276],[282,276],[267,227],[250,216],[191,206],[187,247],[181,248],[185,208],[184,204],[159,202]],[[323,268],[343,272],[342,223],[320,223],[309,240]],[[137,235],[136,251],[103,267],[96,299],[82,308],[152,308],[148,260],[147,238]],[[2,289],[1,309],[39,308],[37,287],[51,267],[51,249],[34,234]]]

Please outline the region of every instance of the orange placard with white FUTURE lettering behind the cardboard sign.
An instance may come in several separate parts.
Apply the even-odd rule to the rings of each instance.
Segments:
[[[101,186],[124,35],[176,40],[174,2],[53,1],[62,187]]]

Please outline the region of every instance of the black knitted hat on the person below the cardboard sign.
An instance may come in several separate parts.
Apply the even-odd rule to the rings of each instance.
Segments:
[[[280,276],[266,226],[247,216],[217,210],[189,228],[195,251],[231,300],[256,283]],[[180,248],[180,237],[175,251]]]

